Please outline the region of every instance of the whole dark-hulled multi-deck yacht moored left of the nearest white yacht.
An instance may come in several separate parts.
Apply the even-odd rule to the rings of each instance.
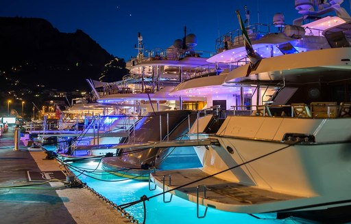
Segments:
[[[184,134],[196,119],[196,113],[191,110],[205,107],[203,96],[169,94],[189,75],[217,74],[221,70],[220,66],[208,63],[210,53],[197,51],[195,46],[197,37],[193,33],[186,35],[186,29],[184,38],[175,40],[166,49],[145,49],[143,37],[138,33],[137,57],[127,63],[130,74],[114,83],[89,81],[97,102],[115,104],[118,114],[140,118],[132,123],[128,137],[116,142],[118,156],[102,160],[104,169],[118,170],[113,172],[117,176],[147,180],[149,167],[167,169],[169,163],[177,167],[201,165],[193,148],[173,152],[174,148],[167,145],[157,148],[150,145],[135,150],[149,141],[184,140]]]

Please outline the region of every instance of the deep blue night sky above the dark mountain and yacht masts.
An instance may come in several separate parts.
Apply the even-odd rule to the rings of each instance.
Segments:
[[[215,51],[215,39],[239,28],[235,10],[250,23],[272,23],[276,12],[291,24],[300,17],[293,0],[232,1],[112,1],[112,0],[1,0],[0,16],[45,18],[64,33],[82,29],[108,53],[126,61],[136,55],[137,33],[145,48],[167,48],[187,33],[197,36],[197,51]],[[350,1],[342,5],[350,13]]]

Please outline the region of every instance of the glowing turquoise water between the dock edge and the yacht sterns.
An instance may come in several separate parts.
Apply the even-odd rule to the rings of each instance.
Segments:
[[[99,163],[96,161],[90,162],[77,162],[70,163],[75,167],[82,167],[83,169],[95,169]],[[97,168],[99,171],[101,168]],[[156,191],[149,191],[147,182],[138,182],[135,180],[125,180],[119,182],[106,182],[101,180],[124,180],[117,176],[113,176],[106,172],[89,173],[89,176],[98,178],[101,180],[95,180],[84,174],[75,171],[75,174],[93,188],[95,191],[104,195],[117,205],[126,204],[131,201],[140,199],[141,196],[147,195],[148,197],[161,193],[160,188],[156,188]],[[169,198],[169,194],[166,195]],[[143,204],[136,204],[126,209],[127,212],[134,216],[134,219],[143,221]],[[213,224],[213,223],[298,223],[291,219],[276,220],[274,219],[275,214],[265,215],[261,217],[265,219],[256,219],[247,214],[239,214],[234,212],[223,212],[208,208],[206,217],[204,219],[197,219],[196,215],[196,204],[193,202],[180,199],[179,197],[173,198],[170,203],[164,203],[162,196],[155,197],[146,201],[147,210],[147,224]],[[204,211],[204,207],[200,208],[200,214]]]

